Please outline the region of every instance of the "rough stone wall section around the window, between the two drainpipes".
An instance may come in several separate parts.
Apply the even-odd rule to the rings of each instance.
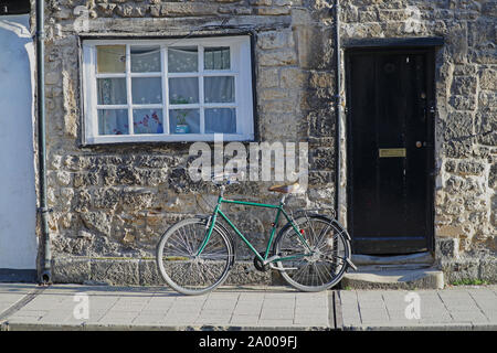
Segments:
[[[75,29],[74,24],[84,19],[80,6],[88,9],[88,22],[86,28],[82,24]],[[214,188],[190,181],[189,143],[81,146],[78,35],[252,32],[257,140],[309,142],[309,193],[293,203],[318,205],[332,200],[334,51],[329,40],[331,12],[326,2],[60,0],[47,1],[46,11],[47,164],[49,202],[54,210],[50,217],[54,280],[102,280],[103,271],[98,268],[110,263],[118,268],[125,264],[117,272],[133,268],[133,274],[141,274],[139,259],[142,264],[150,261],[168,226],[191,214],[207,213],[212,208],[205,201],[212,204],[216,197]],[[267,186],[268,183],[247,182],[230,188],[228,193],[233,199],[277,202],[278,196],[269,194]],[[263,250],[274,214],[243,206],[226,210]],[[240,250],[242,259],[252,258],[244,247]],[[118,261],[131,258],[136,260]],[[92,265],[97,263],[104,265]]]

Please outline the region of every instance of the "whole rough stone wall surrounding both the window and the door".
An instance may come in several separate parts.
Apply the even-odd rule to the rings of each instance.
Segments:
[[[116,258],[136,259],[133,271],[141,274],[139,259],[146,264],[154,257],[163,231],[188,214],[205,213],[204,199],[215,200],[212,186],[189,180],[187,143],[81,146],[78,35],[253,33],[256,136],[269,142],[307,141],[309,190],[293,203],[335,204],[332,1],[46,2],[49,202],[54,210],[50,229],[54,264],[59,264],[55,280],[99,280],[99,265],[92,264]],[[496,252],[496,1],[342,2],[343,39],[444,36],[436,67],[437,257]],[[87,12],[76,10],[82,6]],[[84,19],[82,13],[87,13],[88,21],[75,28]],[[267,183],[247,182],[228,192],[233,197],[276,202],[277,195],[266,188]],[[242,206],[228,213],[256,245],[263,243],[261,235],[267,233],[273,215],[258,210],[248,213]],[[73,272],[64,275],[57,268]],[[147,282],[139,275],[136,278],[134,284]]]

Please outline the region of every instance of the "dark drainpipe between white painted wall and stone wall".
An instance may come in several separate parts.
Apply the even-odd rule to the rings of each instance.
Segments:
[[[38,103],[38,161],[40,182],[40,215],[43,236],[43,267],[40,282],[52,282],[52,250],[49,233],[49,208],[46,206],[46,147],[45,147],[45,32],[44,32],[44,1],[36,0],[36,103]]]

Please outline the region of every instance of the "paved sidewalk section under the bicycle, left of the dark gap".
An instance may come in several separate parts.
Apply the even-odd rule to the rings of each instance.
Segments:
[[[230,287],[186,297],[166,287],[55,285],[27,296],[33,290],[35,285],[0,284],[2,330],[335,329],[332,291]]]

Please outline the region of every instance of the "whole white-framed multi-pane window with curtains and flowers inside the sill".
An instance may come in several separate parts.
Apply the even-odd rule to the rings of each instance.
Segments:
[[[253,139],[248,36],[183,41],[83,42],[88,143]]]

